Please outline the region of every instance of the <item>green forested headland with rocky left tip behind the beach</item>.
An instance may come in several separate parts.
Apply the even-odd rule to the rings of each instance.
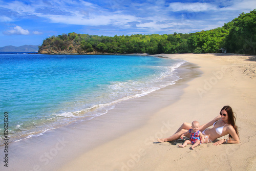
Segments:
[[[255,54],[256,9],[221,28],[197,33],[97,36],[69,33],[46,38],[39,53],[228,53]]]

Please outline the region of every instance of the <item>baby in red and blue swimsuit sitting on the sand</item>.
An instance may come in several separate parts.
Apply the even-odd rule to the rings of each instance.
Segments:
[[[200,142],[203,143],[204,136],[198,129],[199,129],[199,122],[193,121],[192,129],[188,130],[188,132],[186,132],[180,136],[180,138],[183,139],[183,136],[191,134],[190,139],[186,140],[182,145],[179,145],[179,147],[184,148],[187,144],[193,144],[190,147],[190,149],[194,149],[194,147],[198,146],[200,144]]]

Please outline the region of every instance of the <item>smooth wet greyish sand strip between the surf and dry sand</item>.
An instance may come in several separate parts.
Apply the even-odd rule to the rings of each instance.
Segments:
[[[10,151],[15,152],[15,155],[12,154],[11,157],[11,160],[15,161],[15,163],[10,161],[10,168],[14,170],[31,170],[35,167],[42,170],[56,170],[62,167],[63,163],[69,162],[71,158],[75,159],[77,156],[81,156],[91,149],[103,145],[105,142],[113,141],[124,134],[137,130],[145,124],[154,111],[168,105],[168,98],[174,101],[179,98],[182,94],[182,89],[175,91],[173,87],[184,87],[185,79],[192,79],[186,78],[186,73],[198,76],[199,73],[197,71],[195,73],[190,72],[197,68],[195,65],[189,62],[183,65],[183,67],[177,69],[178,75],[182,79],[176,81],[174,85],[156,90],[139,98],[123,101],[107,114],[96,117],[93,120],[77,121],[49,130],[41,136],[9,144]],[[165,97],[166,91],[173,91],[176,98]],[[148,101],[148,99],[151,100]],[[155,100],[158,100],[158,102]],[[131,106],[133,106],[133,109],[131,109]],[[141,115],[138,115],[138,112]],[[90,139],[90,137],[93,138]],[[39,146],[40,148],[38,148]],[[2,148],[0,147],[0,149]],[[66,154],[69,154],[68,157],[63,157]],[[59,159],[60,156],[63,159]],[[26,162],[24,162],[24,159]]]

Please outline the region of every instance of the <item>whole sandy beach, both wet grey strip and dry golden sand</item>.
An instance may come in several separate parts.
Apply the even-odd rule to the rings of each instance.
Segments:
[[[21,170],[182,170],[196,163],[197,170],[253,170],[256,81],[255,73],[251,76],[246,71],[253,70],[254,58],[247,61],[249,57],[242,56],[246,61],[241,64],[239,58],[236,61],[225,55],[157,55],[188,60],[179,70],[189,70],[194,78],[185,74],[187,79],[184,77],[172,86],[120,103],[110,111],[114,115],[102,115],[86,125],[74,123],[49,131],[45,137],[10,145],[10,154],[15,151],[10,157],[10,168],[15,165],[14,169]],[[243,128],[240,144],[208,143],[191,151],[189,147],[177,148],[181,140],[155,143],[156,138],[172,135],[183,122],[206,123],[227,103],[237,113],[238,126]],[[127,111],[129,115],[121,115]],[[97,129],[90,125],[97,125]]]

